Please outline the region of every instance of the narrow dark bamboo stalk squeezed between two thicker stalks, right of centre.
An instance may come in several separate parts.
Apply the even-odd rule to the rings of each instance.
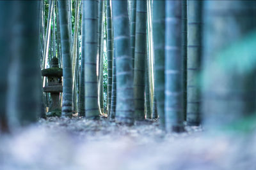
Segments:
[[[198,1],[199,2],[199,1]],[[183,113],[187,113],[187,62],[188,62],[188,1],[182,0],[182,59],[183,59]]]

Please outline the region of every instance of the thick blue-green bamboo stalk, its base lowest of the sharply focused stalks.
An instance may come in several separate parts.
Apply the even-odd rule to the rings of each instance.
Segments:
[[[165,19],[165,127],[184,131],[182,92],[181,1],[166,1]]]

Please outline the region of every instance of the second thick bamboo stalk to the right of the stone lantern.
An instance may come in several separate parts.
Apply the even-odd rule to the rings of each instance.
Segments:
[[[84,85],[86,118],[98,119],[97,96],[97,45],[98,45],[98,4],[96,1],[83,1],[84,43]]]

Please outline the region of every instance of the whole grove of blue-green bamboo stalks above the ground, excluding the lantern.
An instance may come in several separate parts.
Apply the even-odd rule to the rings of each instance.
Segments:
[[[79,116],[156,120],[182,132],[255,112],[255,1],[1,1],[0,8],[2,131]],[[52,97],[40,69],[56,59],[62,109],[46,114]]]

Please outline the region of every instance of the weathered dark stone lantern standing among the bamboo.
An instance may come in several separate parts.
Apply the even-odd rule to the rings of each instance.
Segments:
[[[51,59],[51,68],[43,69],[42,76],[46,76],[48,83],[44,87],[45,93],[51,94],[51,104],[47,116],[61,116],[60,93],[62,92],[63,70],[59,67],[59,60],[56,57]]]

